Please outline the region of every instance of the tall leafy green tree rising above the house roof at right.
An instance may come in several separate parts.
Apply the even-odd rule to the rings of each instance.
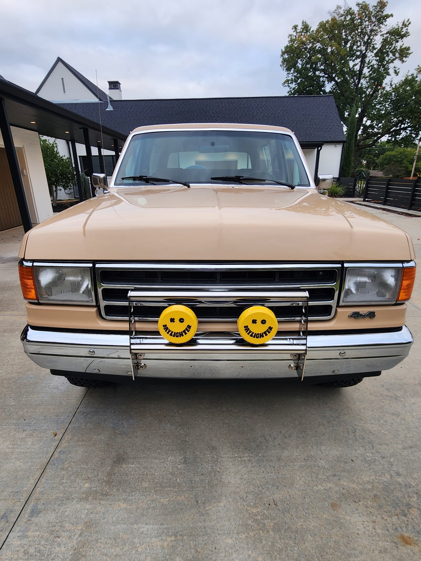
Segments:
[[[315,29],[294,25],[281,53],[290,95],[333,94],[347,127],[344,176],[354,173],[360,150],[383,137],[413,142],[421,130],[421,68],[390,79],[410,55],[410,21],[390,25],[386,7],[385,0],[337,6]]]

